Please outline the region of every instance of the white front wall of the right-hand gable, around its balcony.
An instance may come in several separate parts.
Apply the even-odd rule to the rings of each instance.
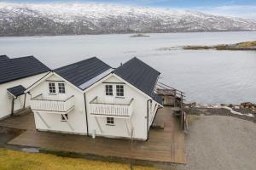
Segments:
[[[104,82],[120,82],[119,79],[112,76]],[[111,84],[111,83],[109,83]],[[106,117],[98,117],[98,122],[102,127],[102,132],[96,124],[95,116],[90,115],[90,101],[96,96],[99,101],[106,103],[125,103],[134,99],[134,112],[131,117],[131,122],[134,127],[134,138],[135,139],[147,139],[147,97],[144,94],[138,93],[136,89],[131,88],[129,85],[124,84],[125,98],[119,99],[115,96],[109,97],[105,95],[106,83],[100,83],[96,87],[91,88],[86,92],[86,104],[88,111],[88,122],[89,122],[89,133],[96,131],[96,135],[108,136],[108,137],[125,137],[130,138],[130,134],[127,132],[125,120],[130,122],[129,119],[125,118],[114,118],[114,126],[107,125]],[[113,87],[116,84],[113,84]],[[115,95],[115,88],[113,88],[113,95]],[[128,123],[128,125],[130,125]],[[130,126],[129,126],[130,127]],[[131,128],[131,127],[130,127]]]

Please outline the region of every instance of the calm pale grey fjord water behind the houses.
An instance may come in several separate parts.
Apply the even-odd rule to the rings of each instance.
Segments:
[[[97,56],[113,67],[137,56],[162,74],[160,81],[183,90],[201,104],[256,103],[256,52],[172,50],[181,45],[211,45],[256,40],[256,31],[216,33],[1,37],[0,54],[34,55],[50,68]]]

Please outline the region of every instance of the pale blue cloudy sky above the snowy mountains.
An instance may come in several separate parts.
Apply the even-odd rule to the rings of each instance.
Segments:
[[[184,8],[198,10],[208,14],[236,16],[256,20],[256,0],[3,0],[3,2],[118,3],[143,7]]]

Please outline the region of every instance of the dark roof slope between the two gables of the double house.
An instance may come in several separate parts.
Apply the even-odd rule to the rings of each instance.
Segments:
[[[76,87],[84,90],[87,88],[87,86],[83,87],[81,85],[90,81],[94,77],[101,75],[103,72],[108,71],[109,69],[111,69],[111,67],[104,63],[101,59],[92,57],[71,65],[63,66],[55,69],[54,71],[68,82],[71,82]]]

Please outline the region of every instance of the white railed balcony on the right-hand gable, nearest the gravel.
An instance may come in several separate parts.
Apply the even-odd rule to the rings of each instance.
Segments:
[[[98,102],[98,98],[90,101],[90,115],[94,116],[117,116],[130,118],[133,112],[134,99],[128,104],[109,104]]]

